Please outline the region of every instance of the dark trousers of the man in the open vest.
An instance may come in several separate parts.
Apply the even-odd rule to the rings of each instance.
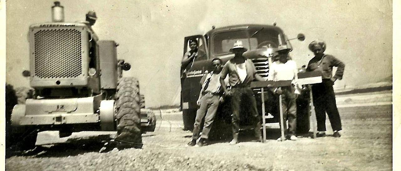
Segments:
[[[250,103],[249,114],[252,116],[255,137],[260,137],[260,117],[256,108],[256,100],[253,96],[253,91],[250,87],[232,87],[231,88],[231,110],[233,116],[231,118],[231,122],[233,124],[233,133],[236,134],[239,132],[239,113],[243,108],[245,103]]]

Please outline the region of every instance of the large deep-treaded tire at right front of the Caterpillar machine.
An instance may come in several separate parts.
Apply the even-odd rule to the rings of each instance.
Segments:
[[[142,148],[140,129],[140,94],[136,78],[121,78],[116,94],[117,137],[115,141],[124,148]]]

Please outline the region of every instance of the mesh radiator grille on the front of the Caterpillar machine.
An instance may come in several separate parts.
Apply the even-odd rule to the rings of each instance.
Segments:
[[[82,73],[81,32],[47,29],[34,34],[35,75],[39,78],[75,78]]]

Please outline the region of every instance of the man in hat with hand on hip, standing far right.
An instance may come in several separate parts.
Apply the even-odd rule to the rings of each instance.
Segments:
[[[326,135],[326,112],[334,131],[334,137],[340,137],[341,119],[334,95],[334,82],[342,79],[345,65],[332,55],[324,54],[326,44],[322,40],[315,40],[309,44],[309,50],[314,58],[309,61],[307,71],[322,72],[322,83],[312,85],[313,104],[315,106],[316,121],[318,125],[317,137]],[[337,67],[336,74],[332,75],[333,67]]]

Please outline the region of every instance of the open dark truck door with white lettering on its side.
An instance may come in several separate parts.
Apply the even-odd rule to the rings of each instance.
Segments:
[[[181,109],[183,112],[184,128],[193,129],[196,116],[196,101],[201,91],[201,78],[209,69],[209,52],[205,37],[202,35],[184,38],[184,53],[190,50],[189,40],[198,41],[198,54],[188,65],[181,66]]]

